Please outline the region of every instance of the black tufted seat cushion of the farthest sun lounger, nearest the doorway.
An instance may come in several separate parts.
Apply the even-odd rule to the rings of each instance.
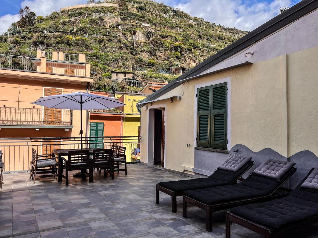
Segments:
[[[237,172],[217,169],[210,177],[208,178],[198,178],[198,179],[189,179],[189,180],[179,180],[179,181],[168,181],[160,182],[159,185],[165,188],[169,188],[176,192],[182,192],[185,190],[198,189],[198,188],[207,188],[226,185],[234,182],[237,177],[242,174],[245,169],[247,169],[253,161],[248,161],[241,169]]]

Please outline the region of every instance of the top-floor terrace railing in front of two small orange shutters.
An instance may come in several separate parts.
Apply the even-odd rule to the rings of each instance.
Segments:
[[[63,63],[60,61],[47,60],[46,72],[64,74],[70,76],[86,76],[85,63]]]

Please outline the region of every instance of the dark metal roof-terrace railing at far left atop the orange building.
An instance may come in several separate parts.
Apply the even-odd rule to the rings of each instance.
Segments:
[[[0,54],[1,69],[15,69],[23,71],[39,71],[41,60],[24,56],[12,56]]]

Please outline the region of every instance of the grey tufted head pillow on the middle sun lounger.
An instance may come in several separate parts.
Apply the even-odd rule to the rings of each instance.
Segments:
[[[296,163],[269,159],[257,167],[252,173],[279,180]]]

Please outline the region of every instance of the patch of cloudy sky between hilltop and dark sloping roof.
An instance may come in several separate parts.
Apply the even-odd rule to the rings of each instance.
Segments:
[[[162,3],[163,0],[156,0]],[[291,0],[273,0],[254,3],[252,6],[243,0],[188,0],[185,3],[173,5],[175,8],[189,13],[191,16],[202,17],[206,21],[236,27],[251,31],[278,15],[279,6],[291,6]],[[300,2],[300,0],[297,0]],[[175,0],[165,0],[166,4],[173,4]]]

